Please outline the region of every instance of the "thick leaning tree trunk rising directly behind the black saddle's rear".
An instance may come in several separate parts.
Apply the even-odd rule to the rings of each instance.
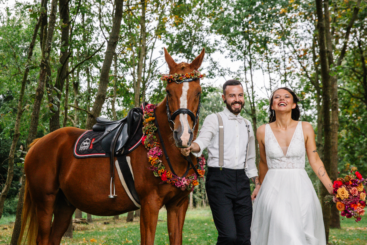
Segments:
[[[92,126],[96,122],[96,118],[101,114],[102,106],[106,99],[106,91],[109,82],[109,72],[112,64],[113,55],[115,54],[117,41],[119,40],[123,0],[116,0],[115,7],[115,16],[113,18],[110,39],[107,42],[105,60],[103,61],[101,77],[99,79],[99,87],[91,114],[88,114],[87,116],[86,129],[92,129]]]

